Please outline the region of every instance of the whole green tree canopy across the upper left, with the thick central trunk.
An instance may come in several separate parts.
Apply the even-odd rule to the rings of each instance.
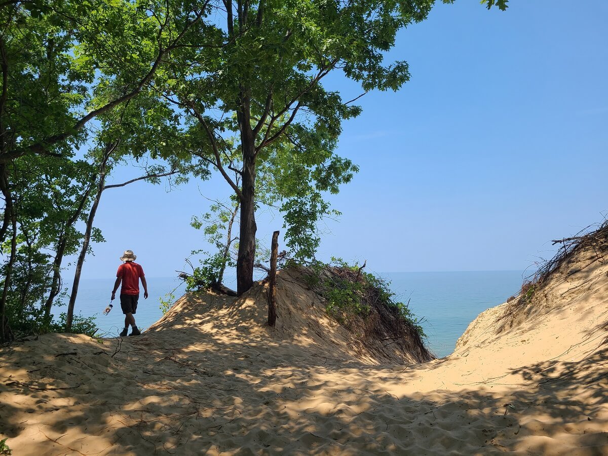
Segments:
[[[223,176],[239,212],[238,292],[252,284],[261,204],[280,208],[292,255],[313,257],[317,221],[336,214],[326,195],[358,171],[336,154],[342,124],[361,113],[363,94],[409,80],[407,63],[387,53],[434,4],[2,2],[0,339],[7,305],[40,305],[49,319],[64,255],[80,250],[83,258],[91,237],[102,240],[92,218],[104,176],[123,160],[155,162],[133,181],[178,168],[182,179]],[[505,10],[507,0],[482,4]],[[332,72],[359,83],[361,95],[345,100],[323,86]],[[35,287],[35,302],[15,304]]]

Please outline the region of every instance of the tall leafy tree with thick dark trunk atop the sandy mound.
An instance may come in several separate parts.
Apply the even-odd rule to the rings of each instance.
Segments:
[[[506,7],[505,1],[498,4]],[[361,112],[325,89],[322,80],[342,71],[363,92],[399,89],[409,80],[407,63],[384,64],[385,53],[400,29],[427,17],[434,1],[224,0],[223,5],[226,21],[217,25],[221,44],[193,43],[174,53],[173,65],[157,76],[165,78],[159,85],[188,116],[192,151],[206,157],[240,201],[237,288],[243,293],[253,283],[258,168],[272,163],[275,175],[289,176],[278,187],[288,199],[282,210],[289,224],[304,224],[304,229],[291,226],[289,243],[304,243],[303,255],[309,255],[315,245],[306,245],[305,221],[326,213],[323,192],[337,192],[356,171],[334,150],[342,122]],[[233,148],[227,134],[238,138],[238,168],[224,164]],[[240,185],[229,170],[240,174]]]

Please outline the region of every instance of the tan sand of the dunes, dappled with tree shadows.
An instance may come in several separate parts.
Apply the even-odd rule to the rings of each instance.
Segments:
[[[447,358],[368,350],[297,274],[182,297],[140,337],[3,348],[16,456],[608,455],[608,263],[579,258],[534,306],[480,314]]]

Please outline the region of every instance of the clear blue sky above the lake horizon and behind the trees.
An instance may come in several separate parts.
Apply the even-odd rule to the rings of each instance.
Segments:
[[[412,79],[362,97],[363,114],[344,125],[337,153],[361,171],[331,197],[343,215],[322,227],[320,258],[384,272],[523,270],[551,256],[551,239],[601,221],[608,3],[582,4],[511,0],[503,13],[458,0],[399,33],[389,58],[407,60]],[[339,76],[325,85],[346,100],[361,93]],[[112,280],[125,249],[148,277],[168,277],[206,247],[189,221],[209,207],[201,193],[227,197],[226,182],[166,190],[105,192],[106,243],[83,278]],[[275,229],[278,214],[258,214],[258,238]]]

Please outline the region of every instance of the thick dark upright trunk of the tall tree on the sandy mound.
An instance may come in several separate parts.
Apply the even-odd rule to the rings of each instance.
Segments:
[[[241,147],[243,148],[243,180],[241,198],[241,227],[238,238],[237,294],[254,285],[255,261],[255,139],[250,127],[247,103],[241,115]]]

